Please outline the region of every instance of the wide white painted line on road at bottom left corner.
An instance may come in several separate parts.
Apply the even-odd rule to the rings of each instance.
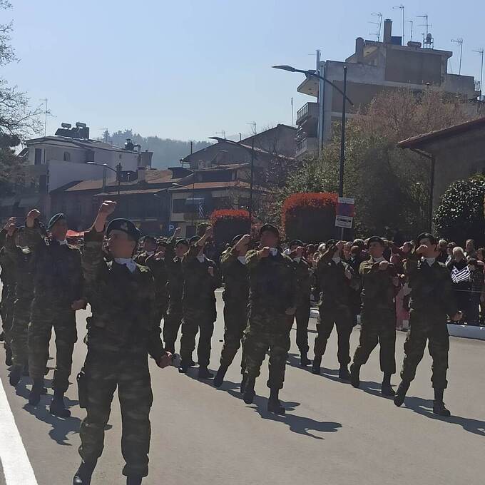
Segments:
[[[38,485],[0,380],[0,461],[6,485]]]

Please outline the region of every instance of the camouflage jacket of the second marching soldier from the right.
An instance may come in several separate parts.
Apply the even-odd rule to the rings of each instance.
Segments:
[[[389,263],[387,270],[379,270],[379,262],[372,259],[360,263],[362,277],[362,307],[364,310],[396,311],[394,297],[399,291],[392,278],[397,276],[394,265]]]

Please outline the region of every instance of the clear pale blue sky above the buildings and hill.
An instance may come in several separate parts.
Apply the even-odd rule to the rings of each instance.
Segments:
[[[20,61],[0,76],[26,91],[33,105],[48,99],[47,133],[82,121],[91,138],[132,128],[143,136],[206,140],[291,123],[314,98],[297,93],[302,75],[271,66],[315,68],[344,60],[355,38],[375,39],[373,13],[402,34],[399,1],[325,0],[10,0],[0,23],[13,21]],[[485,47],[483,1],[405,1],[422,40],[428,14],[435,48],[454,51],[449,72],[480,76]],[[409,27],[406,23],[406,41]],[[381,36],[382,39],[382,36]]]

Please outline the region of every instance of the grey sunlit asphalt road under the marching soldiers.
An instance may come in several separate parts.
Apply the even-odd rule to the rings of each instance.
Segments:
[[[212,369],[217,369],[223,338],[220,293],[218,313]],[[86,353],[82,342],[86,315],[78,312],[79,338],[72,382]],[[359,330],[355,329],[352,352],[358,336]],[[379,394],[377,350],[362,368],[361,389],[353,389],[337,378],[335,332],[327,346],[321,376],[299,367],[295,337],[294,328],[285,388],[280,394],[287,408],[285,416],[266,412],[267,360],[257,380],[255,404],[250,406],[242,402],[238,392],[239,354],[221,389],[198,381],[196,369],[183,376],[174,367],[162,370],[151,362],[154,403],[150,415],[150,474],[143,483],[484,484],[485,342],[451,337],[445,402],[453,415],[440,418],[430,411],[428,355],[418,368],[405,405],[398,409]],[[402,363],[404,337],[404,333],[398,332],[398,367]],[[314,339],[315,320],[311,320],[310,347]],[[52,360],[49,365],[53,367]],[[15,391],[9,386],[7,375],[2,363],[1,382],[37,483],[71,484],[80,460],[78,428],[84,415],[76,406],[76,385],[67,394],[73,416],[58,419],[48,413],[49,397],[43,397],[36,408],[29,406],[28,379],[24,378]],[[48,384],[51,377],[52,372],[46,377]],[[394,376],[393,384],[398,382]],[[124,484],[120,439],[121,419],[115,397],[105,450],[93,475],[93,485]],[[0,466],[0,484],[4,483]]]

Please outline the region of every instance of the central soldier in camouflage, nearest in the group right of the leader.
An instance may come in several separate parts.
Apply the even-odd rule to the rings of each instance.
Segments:
[[[285,366],[290,349],[290,330],[295,318],[295,263],[277,247],[277,228],[265,224],[260,229],[260,249],[246,255],[250,283],[249,318],[244,337],[246,359],[243,399],[251,404],[255,381],[260,375],[266,352],[270,351],[270,399],[267,410],[284,414],[279,399],[285,381]]]

